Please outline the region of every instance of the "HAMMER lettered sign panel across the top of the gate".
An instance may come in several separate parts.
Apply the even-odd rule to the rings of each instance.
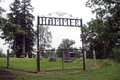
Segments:
[[[82,27],[82,19],[38,16],[38,25]]]

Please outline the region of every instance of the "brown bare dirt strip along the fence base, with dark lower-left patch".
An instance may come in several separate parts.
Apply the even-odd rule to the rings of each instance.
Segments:
[[[96,69],[98,68],[100,65],[102,65],[102,63],[99,63],[97,64],[96,66],[91,66],[91,67],[88,67],[87,70],[91,70],[91,69]],[[30,71],[24,71],[24,70],[19,70],[19,69],[7,69],[7,68],[3,68],[3,69],[6,69],[6,70],[11,70],[11,71],[17,71],[17,72],[22,72],[22,73],[26,73],[28,75],[44,75],[44,74],[67,74],[67,73],[77,73],[77,72],[81,72],[83,71],[83,69],[81,70],[77,70],[77,71],[63,71],[63,72],[30,72]],[[6,76],[7,74],[7,76]],[[4,70],[0,70],[0,80],[11,80],[15,77],[15,75],[11,74],[10,72],[8,71],[4,71]],[[2,79],[3,78],[3,79]],[[8,78],[8,79],[7,79]]]

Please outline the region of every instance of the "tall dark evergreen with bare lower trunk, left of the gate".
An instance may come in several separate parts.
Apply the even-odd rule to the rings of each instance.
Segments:
[[[35,34],[33,29],[34,16],[30,14],[33,11],[33,7],[30,4],[30,0],[15,0],[10,5],[11,13],[9,13],[9,20],[13,24],[18,24],[21,26],[24,34],[14,34],[14,52],[17,53],[17,57],[22,54],[29,53],[32,54]],[[25,44],[26,43],[26,44]],[[17,46],[15,46],[15,44]],[[27,46],[27,47],[25,47]],[[16,51],[15,51],[16,48]]]

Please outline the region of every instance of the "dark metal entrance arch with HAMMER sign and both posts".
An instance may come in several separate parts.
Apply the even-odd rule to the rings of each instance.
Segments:
[[[58,17],[39,17],[37,16],[37,71],[40,71],[40,50],[39,50],[39,25],[48,26],[68,26],[68,27],[81,27],[81,33],[83,34],[82,18],[58,18]],[[84,56],[84,46],[82,37],[82,53]],[[85,59],[83,57],[83,69],[85,70]]]

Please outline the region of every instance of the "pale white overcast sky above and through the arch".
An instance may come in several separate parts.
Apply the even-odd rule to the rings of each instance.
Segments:
[[[85,3],[87,0],[31,0],[31,4],[34,7],[34,12],[32,14],[35,16],[34,29],[37,24],[37,16],[47,16],[49,13],[53,12],[65,12],[75,18],[83,20],[83,24],[90,21],[91,18],[95,18],[95,15],[91,13],[91,9],[87,8]],[[0,2],[0,6],[9,11],[9,5],[13,0],[4,0]],[[47,17],[59,17],[56,14]],[[68,18],[68,15],[64,15],[64,18]],[[69,17],[70,18],[70,17]],[[60,26],[50,26],[49,31],[52,32],[52,47],[57,48],[61,43],[62,39],[72,39],[75,40],[76,44],[73,47],[80,47],[80,28],[79,27],[60,27]],[[8,45],[3,45],[4,40],[0,39],[0,47],[3,52],[6,53]],[[37,46],[35,46],[36,48]]]

